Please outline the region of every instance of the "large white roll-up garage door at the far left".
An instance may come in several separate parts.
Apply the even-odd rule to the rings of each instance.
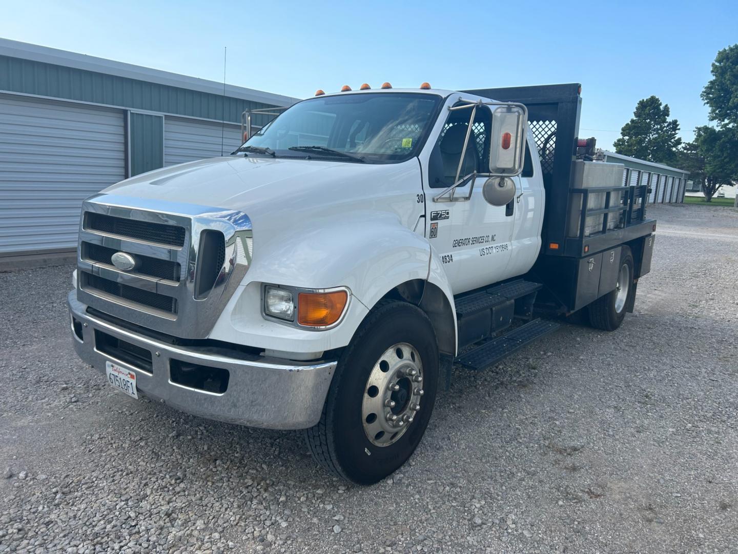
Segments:
[[[82,200],[124,178],[122,111],[0,95],[0,255],[74,248]]]

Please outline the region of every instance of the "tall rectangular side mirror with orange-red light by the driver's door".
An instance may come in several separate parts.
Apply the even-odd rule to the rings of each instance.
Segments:
[[[515,177],[523,171],[527,120],[527,110],[518,105],[498,106],[492,112],[489,148],[489,172],[492,175]]]

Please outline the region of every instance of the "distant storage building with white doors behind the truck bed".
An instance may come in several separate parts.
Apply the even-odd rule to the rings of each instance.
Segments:
[[[615,152],[602,152],[604,162],[622,163],[625,165],[623,185],[649,185],[649,204],[669,204],[684,202],[688,171],[672,168],[661,163],[646,162]]]

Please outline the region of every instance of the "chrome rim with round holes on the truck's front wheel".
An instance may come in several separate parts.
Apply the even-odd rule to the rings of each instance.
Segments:
[[[376,360],[362,400],[364,432],[373,445],[389,446],[413,424],[424,394],[423,362],[408,343],[390,346]]]

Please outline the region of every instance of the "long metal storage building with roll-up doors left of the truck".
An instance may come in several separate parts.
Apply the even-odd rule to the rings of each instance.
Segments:
[[[0,39],[0,260],[73,250],[87,196],[229,154],[244,110],[296,100]]]

